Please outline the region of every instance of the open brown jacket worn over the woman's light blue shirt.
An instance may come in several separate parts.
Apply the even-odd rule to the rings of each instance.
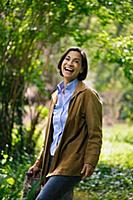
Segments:
[[[53,93],[43,148],[35,162],[44,177],[51,175],[81,176],[85,163],[96,166],[102,145],[102,104],[98,94],[79,81],[70,100],[68,118],[48,173],[52,141],[52,113],[57,102]]]

